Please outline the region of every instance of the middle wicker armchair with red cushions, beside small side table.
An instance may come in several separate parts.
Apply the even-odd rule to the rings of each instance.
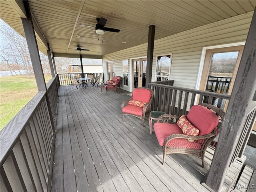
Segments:
[[[154,91],[149,88],[135,88],[132,92],[130,100],[122,102],[122,116],[132,115],[142,120],[144,125],[145,115],[151,110],[151,103],[153,100]]]

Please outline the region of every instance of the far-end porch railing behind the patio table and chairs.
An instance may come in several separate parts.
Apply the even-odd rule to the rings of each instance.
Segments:
[[[93,75],[96,77],[99,76],[98,82],[103,83],[104,82],[104,74],[103,73],[84,73],[84,77],[89,77],[90,75]],[[81,73],[63,73],[58,74],[60,85],[71,85],[71,77],[78,77],[81,78]]]

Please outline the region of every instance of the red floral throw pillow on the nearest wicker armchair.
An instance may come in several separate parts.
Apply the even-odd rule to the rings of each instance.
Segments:
[[[182,115],[177,121],[177,125],[181,128],[183,134],[198,136],[199,130],[194,127],[186,118],[186,116]],[[194,142],[194,139],[188,139],[189,142]]]

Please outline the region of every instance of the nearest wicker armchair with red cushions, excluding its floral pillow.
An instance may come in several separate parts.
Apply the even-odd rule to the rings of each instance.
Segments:
[[[160,116],[154,124],[154,131],[159,144],[163,146],[163,165],[166,154],[181,153],[200,158],[204,167],[206,148],[220,133],[224,116],[225,113],[220,108],[211,104],[192,106],[185,119],[192,124],[191,127],[199,130],[198,136],[184,134],[184,130],[188,130],[189,126],[184,124],[186,121],[179,122],[182,117]],[[184,127],[181,128],[181,125]]]

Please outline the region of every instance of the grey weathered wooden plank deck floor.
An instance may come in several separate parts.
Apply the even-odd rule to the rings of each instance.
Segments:
[[[117,92],[60,86],[49,191],[208,191],[200,182],[213,150],[206,169],[184,154],[167,155],[163,166],[148,116],[144,127],[132,116],[122,122],[121,103],[130,96]]]

